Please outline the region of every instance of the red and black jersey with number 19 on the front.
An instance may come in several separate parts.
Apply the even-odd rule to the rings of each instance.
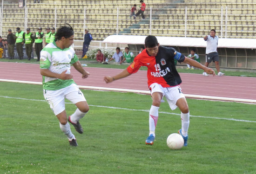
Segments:
[[[154,56],[149,56],[144,49],[138,54],[134,62],[127,67],[128,73],[137,72],[141,66],[148,67],[148,87],[153,84],[161,84],[162,87],[177,86],[182,83],[182,79],[178,74],[174,59],[178,62],[183,62],[185,56],[177,52],[174,48],[159,46],[158,53]]]

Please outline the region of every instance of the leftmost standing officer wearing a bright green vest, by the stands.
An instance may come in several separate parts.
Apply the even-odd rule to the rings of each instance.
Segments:
[[[16,34],[15,34],[15,38],[16,38],[16,49],[19,55],[19,59],[22,60],[23,59],[23,45],[25,43],[25,32],[20,30],[20,27],[16,28]]]

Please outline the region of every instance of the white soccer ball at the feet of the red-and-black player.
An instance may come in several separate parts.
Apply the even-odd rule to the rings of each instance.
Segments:
[[[174,133],[168,136],[166,143],[169,148],[176,150],[183,147],[184,140],[182,135]]]

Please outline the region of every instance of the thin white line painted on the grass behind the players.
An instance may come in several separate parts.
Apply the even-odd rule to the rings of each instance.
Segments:
[[[30,100],[30,101],[46,102],[46,100],[36,100],[36,99],[20,98],[20,97],[7,97],[7,96],[0,96],[0,97],[19,99],[19,100]],[[66,103],[66,104],[73,104],[73,103]],[[117,110],[131,110],[131,111],[149,112],[149,110],[135,110],[135,109],[128,109],[128,108],[117,108],[117,107],[111,107],[111,106],[99,106],[99,105],[92,105],[92,104],[89,104],[89,106],[99,107],[99,108],[117,109]],[[170,113],[170,112],[159,112],[159,113],[180,116],[180,114],[177,114],[177,113]],[[229,120],[229,121],[236,121],[236,122],[256,122],[256,121],[250,121],[250,120],[239,120],[239,119],[234,119],[234,118],[220,118],[220,117],[215,117],[215,116],[211,117],[211,116],[192,116],[192,115],[190,115],[190,117],[211,118],[211,119]]]

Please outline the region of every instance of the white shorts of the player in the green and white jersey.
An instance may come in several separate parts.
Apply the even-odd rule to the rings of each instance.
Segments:
[[[54,111],[55,116],[65,110],[65,98],[72,103],[86,101],[83,93],[76,84],[71,84],[60,90],[43,90],[44,98]]]

